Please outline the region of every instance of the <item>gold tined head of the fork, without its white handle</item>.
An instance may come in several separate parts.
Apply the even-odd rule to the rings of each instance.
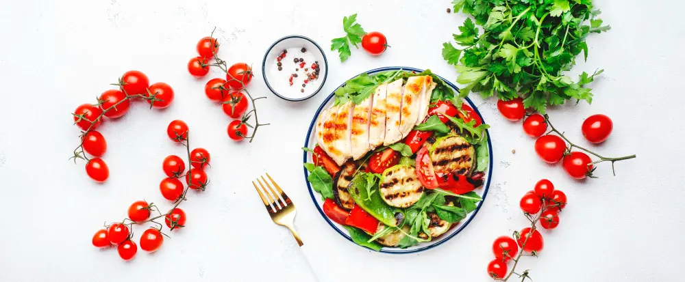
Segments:
[[[279,187],[278,184],[276,184],[276,182],[273,181],[273,178],[271,178],[271,175],[269,175],[269,173],[266,173],[266,177],[269,178],[269,180],[271,180],[271,184],[273,184],[273,186],[276,187],[276,191],[278,191],[278,193],[276,193],[276,191],[274,191],[273,188],[271,188],[269,182],[266,182],[264,176],[262,176],[262,180],[264,180],[264,184],[266,184],[266,187],[269,187],[269,189],[264,187],[264,184],[262,184],[259,178],[257,179],[257,182],[264,190],[264,193],[260,191],[260,188],[257,187],[257,184],[255,184],[254,181],[252,182],[252,185],[255,186],[255,189],[257,189],[257,193],[259,193],[259,197],[262,198],[262,202],[266,207],[266,211],[269,212],[271,220],[273,220],[273,222],[275,222],[277,225],[288,227],[288,229],[290,229],[290,232],[292,232],[292,236],[295,237],[295,240],[297,240],[297,244],[302,246],[304,243],[302,242],[302,240],[300,240],[297,231],[295,231],[295,227],[292,225],[292,221],[295,219],[295,203],[292,203],[292,201],[290,201],[290,198],[288,198],[288,195],[286,195],[286,193],[283,193],[281,187]],[[266,197],[264,197],[264,195],[266,195]]]

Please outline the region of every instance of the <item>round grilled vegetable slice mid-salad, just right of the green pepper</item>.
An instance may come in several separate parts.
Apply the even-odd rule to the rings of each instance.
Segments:
[[[416,169],[409,165],[396,165],[383,172],[379,186],[382,199],[388,205],[408,208],[423,195],[423,186],[416,178]]]

